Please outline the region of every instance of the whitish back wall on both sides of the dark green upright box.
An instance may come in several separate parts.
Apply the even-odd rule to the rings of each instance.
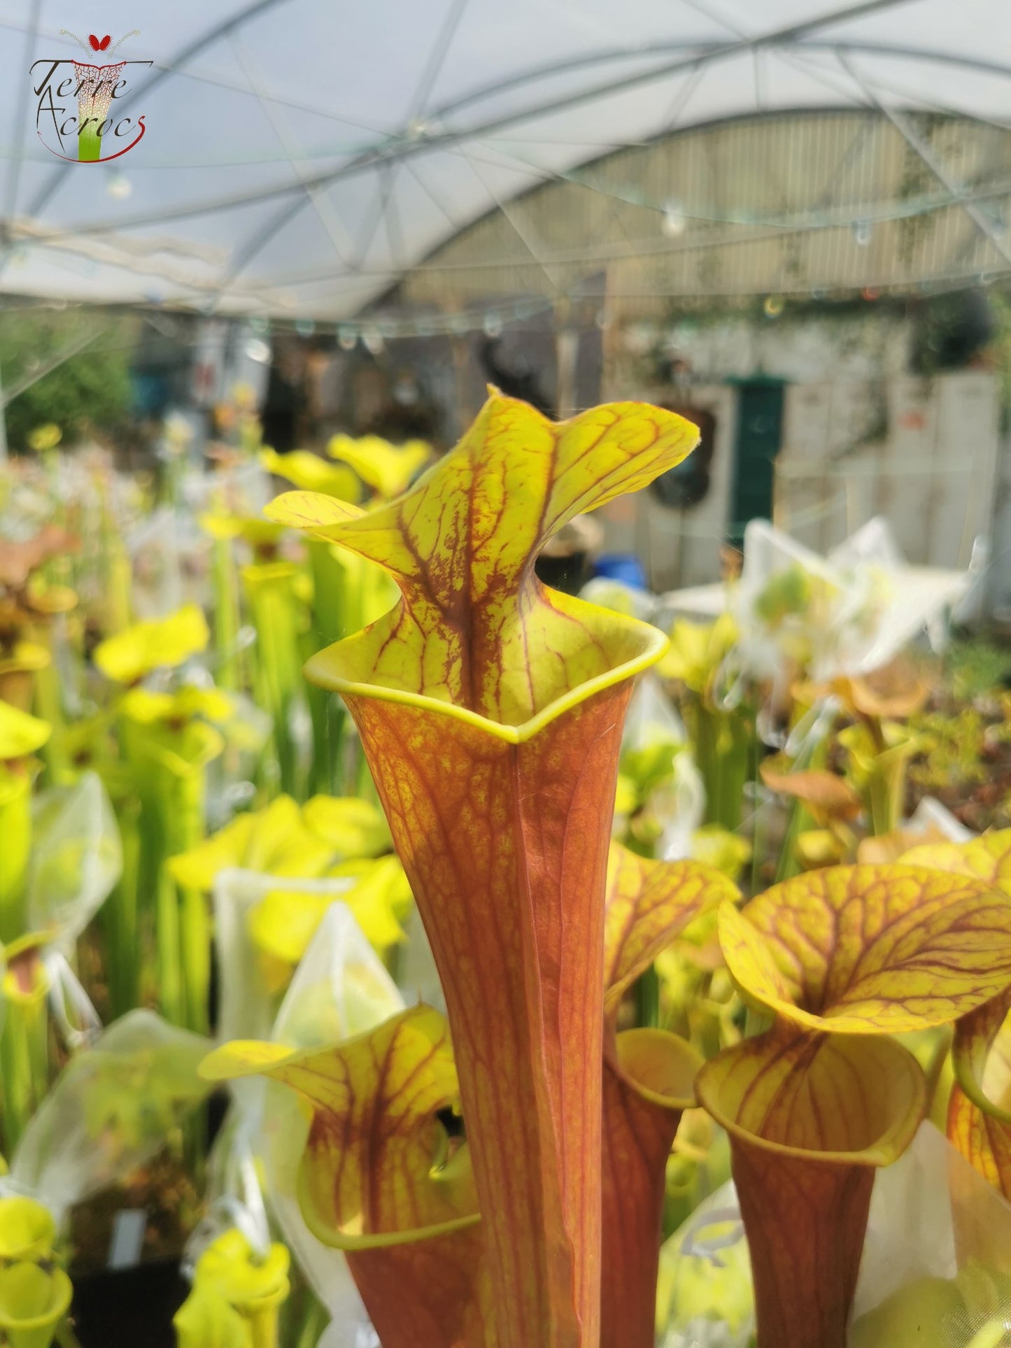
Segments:
[[[631,396],[670,402],[671,391]],[[718,580],[733,483],[736,388],[693,386],[678,400],[716,417],[705,500],[673,511],[647,491],[597,516],[604,547],[638,553],[661,592]],[[1011,464],[1000,454],[999,411],[998,383],[987,371],[790,384],[775,520],[824,553],[874,515],[886,515],[907,561],[964,568],[975,539],[995,531],[1000,465],[1007,481],[991,547],[991,594],[1011,605]]]

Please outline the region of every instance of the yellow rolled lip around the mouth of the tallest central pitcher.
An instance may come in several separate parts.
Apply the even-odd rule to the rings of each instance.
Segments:
[[[607,646],[615,652],[613,663],[609,663],[600,674],[551,698],[534,716],[515,725],[483,716],[480,712],[460,706],[445,697],[434,697],[411,689],[396,687],[392,683],[379,683],[356,678],[353,674],[355,650],[360,639],[371,631],[368,627],[363,632],[356,632],[353,636],[348,636],[313,655],[305,665],[305,675],[310,683],[329,693],[367,697],[383,702],[398,702],[403,706],[417,706],[438,716],[462,721],[483,731],[485,735],[504,740],[507,744],[523,744],[565,712],[572,710],[581,702],[589,701],[596,693],[601,693],[617,683],[624,683],[651,665],[655,665],[670,644],[659,628],[651,627],[636,617],[628,617],[624,613],[616,613],[554,590],[551,592],[551,600],[566,613],[578,617],[588,625],[588,644],[596,642],[600,646],[604,644],[607,638],[611,638],[611,640],[607,640]],[[386,616],[388,615],[384,615],[379,621],[384,621]],[[608,631],[604,632],[604,628]],[[342,673],[341,666],[348,670],[346,675]]]

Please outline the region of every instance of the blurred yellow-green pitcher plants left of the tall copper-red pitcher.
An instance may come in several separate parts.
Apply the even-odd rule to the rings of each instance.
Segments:
[[[195,1065],[212,1042],[218,875],[276,880],[243,914],[251,960],[232,956],[252,1008],[232,1029],[249,1033],[270,1024],[337,894],[390,962],[411,906],[344,714],[301,674],[314,644],[390,605],[390,582],[328,547],[293,555],[256,516],[272,472],[380,499],[430,448],[336,437],[332,465],[279,461],[243,415],[200,480],[197,531],[182,501],[186,426],[168,431],[160,499],[98,454],[61,457],[55,427],[40,429],[38,461],[0,473],[0,1174],[4,1157],[12,1167],[0,1188],[18,1198],[0,1200],[0,1228],[26,1204],[51,1225],[57,1208],[47,1274],[50,1256],[73,1258],[70,1209],[97,1188],[166,1148],[202,1181]],[[228,1240],[216,1248],[217,1263],[197,1260],[183,1341],[214,1304],[206,1270],[239,1259]],[[9,1290],[11,1305],[34,1306],[39,1277],[0,1266],[0,1301]],[[4,1318],[5,1305],[0,1337],[32,1345],[66,1310],[35,1325],[31,1309]],[[276,1340],[276,1305],[251,1332]]]

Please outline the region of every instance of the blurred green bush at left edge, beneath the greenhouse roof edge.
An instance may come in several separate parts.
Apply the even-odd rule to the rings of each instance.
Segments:
[[[47,422],[59,426],[65,445],[123,425],[131,403],[132,326],[127,318],[113,318],[106,326],[93,310],[54,314],[8,309],[0,314],[0,377],[7,390],[96,332],[93,342],[11,400],[5,411],[11,449],[27,449],[28,434]]]

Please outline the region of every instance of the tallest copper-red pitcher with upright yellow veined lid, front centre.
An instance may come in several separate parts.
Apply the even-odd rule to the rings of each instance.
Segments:
[[[492,394],[396,500],[364,512],[290,492],[268,507],[402,592],[306,673],[359,727],[434,950],[499,1348],[600,1339],[608,838],[632,679],[666,648],[644,623],[545,589],[534,561],[697,439],[644,404],[555,426]],[[419,1224],[456,1227],[437,1206]]]

